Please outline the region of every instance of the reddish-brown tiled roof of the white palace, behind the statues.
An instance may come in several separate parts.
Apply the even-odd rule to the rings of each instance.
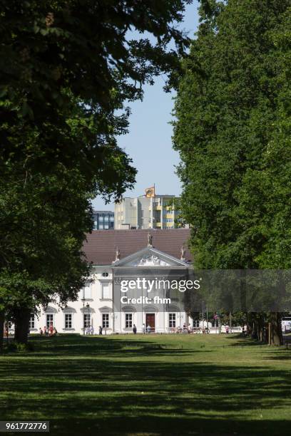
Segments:
[[[83,245],[88,262],[94,265],[109,265],[115,259],[116,246],[121,259],[144,249],[148,245],[148,232],[153,237],[153,247],[180,259],[180,249],[186,249],[185,259],[192,261],[188,250],[190,229],[148,229],[148,230],[93,230],[87,234]]]

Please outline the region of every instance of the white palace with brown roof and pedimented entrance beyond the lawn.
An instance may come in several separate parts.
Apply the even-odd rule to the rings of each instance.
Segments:
[[[138,333],[148,326],[152,332],[168,333],[188,325],[192,320],[185,313],[183,293],[157,284],[188,276],[189,237],[189,229],[88,234],[83,250],[92,264],[90,280],[77,301],[63,307],[51,302],[31,316],[30,332],[52,325],[58,333],[84,334],[90,327],[98,334],[100,326],[103,334],[132,333],[135,325]]]

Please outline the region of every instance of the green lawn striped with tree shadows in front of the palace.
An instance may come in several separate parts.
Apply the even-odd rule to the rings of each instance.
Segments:
[[[0,420],[52,435],[287,435],[291,350],[233,335],[32,338],[0,356]]]

